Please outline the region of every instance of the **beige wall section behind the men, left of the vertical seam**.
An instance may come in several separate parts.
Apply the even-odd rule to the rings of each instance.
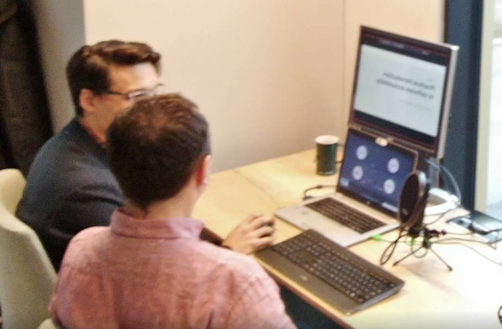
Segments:
[[[86,40],[144,40],[160,51],[168,89],[193,99],[210,122],[219,171],[307,149],[316,135],[336,132],[342,5],[86,1]]]

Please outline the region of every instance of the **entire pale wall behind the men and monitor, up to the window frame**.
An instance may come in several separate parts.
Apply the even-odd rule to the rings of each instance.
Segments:
[[[319,134],[344,138],[359,24],[433,41],[440,40],[443,24],[440,0],[61,3],[45,15],[59,17],[57,26],[41,32],[42,47],[61,52],[45,51],[45,61],[62,70],[84,40],[151,44],[163,54],[168,89],[197,102],[211,124],[213,171],[310,148]],[[74,12],[65,10],[72,6]],[[49,88],[60,129],[73,112],[57,71],[48,71],[48,78],[64,86]]]

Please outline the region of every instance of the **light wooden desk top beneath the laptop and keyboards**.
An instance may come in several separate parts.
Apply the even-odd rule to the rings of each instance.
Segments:
[[[225,237],[249,213],[272,215],[279,207],[297,204],[305,189],[318,184],[335,183],[335,176],[315,174],[314,157],[314,150],[309,150],[213,174],[194,216],[203,219],[213,234]],[[331,191],[327,189],[318,193]],[[449,217],[463,212],[452,211]],[[426,218],[425,222],[431,220],[433,218]],[[276,227],[277,242],[300,232],[279,219]],[[464,232],[442,221],[430,228]],[[396,231],[383,236],[387,240],[396,237]],[[446,238],[475,239],[469,235],[441,237]],[[502,259],[502,252],[486,245],[465,243],[491,259],[498,262]],[[350,250],[379,264],[380,256],[387,246],[388,243],[384,241],[368,240],[350,247]],[[279,282],[348,328],[502,328],[497,317],[498,307],[502,305],[502,266],[490,263],[462,245],[435,244],[433,248],[453,267],[452,272],[431,252],[423,258],[412,256],[398,266],[392,266],[393,261],[410,251],[409,246],[400,244],[384,268],[406,282],[403,289],[352,315],[339,312],[288,277],[265,267]]]

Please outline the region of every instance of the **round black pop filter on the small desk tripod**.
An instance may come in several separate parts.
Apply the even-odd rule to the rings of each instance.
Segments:
[[[408,174],[399,199],[398,219],[401,228],[407,229],[411,234],[422,229],[428,195],[429,184],[425,174],[421,171]]]

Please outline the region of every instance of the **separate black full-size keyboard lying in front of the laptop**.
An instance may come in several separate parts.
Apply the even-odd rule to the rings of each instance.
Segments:
[[[335,308],[354,313],[399,291],[404,281],[314,230],[256,256]]]

